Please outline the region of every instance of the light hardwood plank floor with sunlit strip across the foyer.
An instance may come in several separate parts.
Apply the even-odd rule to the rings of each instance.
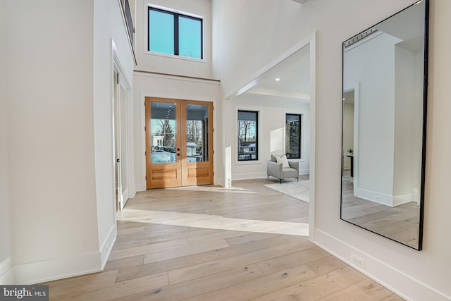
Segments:
[[[105,270],[46,283],[50,300],[402,300],[309,242],[309,204],[270,182],[138,193]]]

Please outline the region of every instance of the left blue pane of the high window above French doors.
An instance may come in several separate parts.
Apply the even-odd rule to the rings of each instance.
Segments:
[[[149,9],[149,51],[174,54],[174,16]]]

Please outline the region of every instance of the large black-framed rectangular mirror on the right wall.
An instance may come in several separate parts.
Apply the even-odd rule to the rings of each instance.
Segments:
[[[343,42],[341,219],[421,250],[428,0]]]

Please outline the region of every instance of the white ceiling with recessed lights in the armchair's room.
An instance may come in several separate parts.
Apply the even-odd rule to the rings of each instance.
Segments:
[[[278,80],[276,80],[278,78]],[[303,47],[266,71],[252,82],[252,87],[237,96],[262,101],[310,102],[310,54],[309,46]]]

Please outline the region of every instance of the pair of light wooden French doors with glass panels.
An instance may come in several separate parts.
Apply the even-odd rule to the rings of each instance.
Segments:
[[[213,104],[146,97],[147,189],[213,183]]]

